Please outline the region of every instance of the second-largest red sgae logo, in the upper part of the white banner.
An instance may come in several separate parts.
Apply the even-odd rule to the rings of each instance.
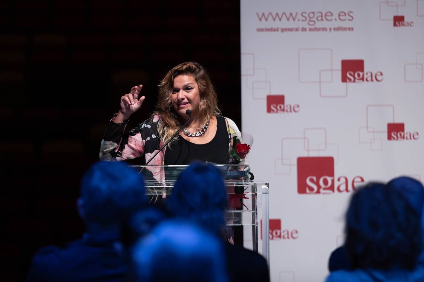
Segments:
[[[342,82],[381,82],[383,73],[364,70],[364,60],[342,60]]]

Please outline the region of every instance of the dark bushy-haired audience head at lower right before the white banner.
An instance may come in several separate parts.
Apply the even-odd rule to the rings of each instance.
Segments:
[[[369,183],[353,194],[345,242],[353,268],[414,268],[422,246],[421,214],[398,188]]]

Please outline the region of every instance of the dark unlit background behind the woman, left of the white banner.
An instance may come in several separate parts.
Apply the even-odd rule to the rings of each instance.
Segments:
[[[25,280],[40,247],[81,236],[79,182],[120,97],[143,84],[128,129],[188,60],[209,70],[240,126],[239,1],[0,1],[2,281]]]

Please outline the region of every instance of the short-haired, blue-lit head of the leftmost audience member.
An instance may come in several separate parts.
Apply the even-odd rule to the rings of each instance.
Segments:
[[[142,175],[123,162],[96,162],[82,178],[78,211],[87,226],[120,225],[145,203]]]

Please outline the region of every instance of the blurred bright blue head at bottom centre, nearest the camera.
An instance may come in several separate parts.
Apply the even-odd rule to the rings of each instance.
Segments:
[[[137,282],[227,282],[222,242],[191,222],[167,220],[132,249]]]

